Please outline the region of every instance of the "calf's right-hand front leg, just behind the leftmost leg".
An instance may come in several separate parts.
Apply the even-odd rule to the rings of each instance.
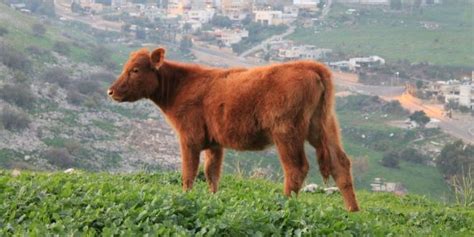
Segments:
[[[206,161],[204,172],[206,174],[209,190],[213,193],[217,192],[219,179],[222,170],[222,160],[224,159],[224,151],[222,147],[210,148],[205,150]]]

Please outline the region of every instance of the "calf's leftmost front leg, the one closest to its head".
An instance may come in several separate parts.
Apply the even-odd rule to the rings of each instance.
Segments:
[[[195,146],[181,144],[181,168],[184,191],[193,188],[194,179],[199,167],[200,152]]]

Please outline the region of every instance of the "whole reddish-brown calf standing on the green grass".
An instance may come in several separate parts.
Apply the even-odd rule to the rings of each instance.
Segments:
[[[351,163],[334,113],[331,72],[298,61],[252,69],[207,68],[165,60],[165,50],[131,54],[108,94],[119,102],[152,100],[179,135],[183,189],[193,186],[201,151],[216,192],[224,148],[261,150],[275,144],[285,195],[298,193],[308,173],[304,142],[316,148],[324,180],[332,175],[349,211],[359,210]]]

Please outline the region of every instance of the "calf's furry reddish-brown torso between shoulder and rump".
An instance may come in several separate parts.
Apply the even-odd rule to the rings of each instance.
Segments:
[[[271,144],[278,123],[313,113],[321,91],[315,66],[285,63],[216,78],[203,103],[211,139],[241,150]]]

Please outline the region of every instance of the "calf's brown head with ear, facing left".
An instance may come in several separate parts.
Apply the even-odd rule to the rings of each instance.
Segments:
[[[163,65],[165,49],[155,49],[151,54],[141,49],[130,54],[122,74],[107,91],[118,102],[133,102],[150,98],[158,88],[156,71]]]

